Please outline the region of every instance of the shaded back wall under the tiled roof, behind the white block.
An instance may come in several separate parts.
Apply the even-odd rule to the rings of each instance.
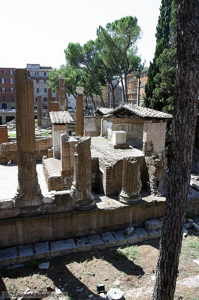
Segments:
[[[112,131],[126,131],[127,141],[141,142],[143,139],[144,121],[139,118],[104,118],[102,119],[101,135],[112,137]]]

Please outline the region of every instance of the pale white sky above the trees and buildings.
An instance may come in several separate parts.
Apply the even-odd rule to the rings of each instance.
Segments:
[[[149,66],[160,5],[161,0],[0,0],[0,67],[59,68],[68,43],[95,40],[100,25],[130,15],[137,17],[142,32],[137,55]]]

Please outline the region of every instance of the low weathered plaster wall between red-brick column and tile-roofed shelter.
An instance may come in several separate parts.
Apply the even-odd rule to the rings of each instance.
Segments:
[[[99,137],[101,132],[102,116],[85,116],[84,117],[84,136]]]

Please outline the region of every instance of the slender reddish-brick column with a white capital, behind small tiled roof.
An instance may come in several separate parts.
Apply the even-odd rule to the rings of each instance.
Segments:
[[[83,126],[84,126],[84,117],[83,117],[83,91],[84,89],[81,86],[76,87],[77,98],[76,98],[76,136],[83,137]]]

